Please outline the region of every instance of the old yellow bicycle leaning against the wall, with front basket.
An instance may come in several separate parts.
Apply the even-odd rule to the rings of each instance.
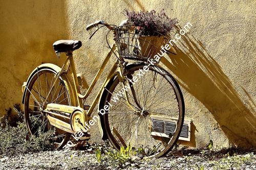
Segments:
[[[67,56],[62,67],[41,64],[24,83],[22,103],[29,133],[38,136],[54,130],[51,140],[56,149],[62,149],[71,134],[77,132],[86,134],[80,140],[88,140],[90,134],[85,125],[93,119],[91,115],[98,103],[98,110],[105,111],[104,114],[98,112],[101,137],[108,139],[116,150],[131,144],[147,158],[166,155],[177,142],[184,121],[184,100],[178,83],[159,62],[148,64],[152,57],[142,54],[142,43],[138,41],[143,29],[109,25],[101,20],[88,25],[87,30],[95,27],[98,29],[92,36],[106,27],[110,30],[107,35],[113,33],[115,43],[112,47],[109,45],[111,50],[85,94],[80,92],[73,60],[73,51],[81,46],[81,41],[77,40],[56,41],[53,46],[57,56],[60,53]],[[146,40],[143,43],[150,44],[147,48],[151,51],[157,49]],[[86,105],[86,99],[113,54],[116,62],[93,103]],[[131,60],[136,62],[129,63]],[[143,75],[141,70],[144,70]],[[67,76],[69,71],[73,81]],[[135,78],[136,75],[141,76]]]

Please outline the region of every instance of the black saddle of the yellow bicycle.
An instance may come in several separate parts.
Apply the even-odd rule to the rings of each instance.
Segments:
[[[58,40],[53,43],[55,53],[62,53],[77,50],[82,46],[82,42],[78,40]]]

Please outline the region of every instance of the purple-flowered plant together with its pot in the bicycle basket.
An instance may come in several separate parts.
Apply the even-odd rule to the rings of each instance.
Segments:
[[[128,11],[124,10],[127,23],[136,27],[138,48],[143,57],[152,58],[159,51],[165,42],[165,35],[173,30],[178,23],[177,18],[169,18],[164,9],[160,13],[155,10],[148,11]]]

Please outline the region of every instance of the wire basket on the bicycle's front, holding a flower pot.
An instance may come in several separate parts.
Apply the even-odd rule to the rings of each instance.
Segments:
[[[146,36],[144,30],[144,28],[136,26],[115,28],[117,51],[120,57],[144,62],[154,59],[167,38],[157,32]]]

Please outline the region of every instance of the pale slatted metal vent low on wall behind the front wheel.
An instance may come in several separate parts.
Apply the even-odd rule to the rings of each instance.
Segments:
[[[174,134],[177,119],[161,116],[151,116],[152,135],[169,137]],[[190,120],[184,120],[179,140],[190,141]]]

